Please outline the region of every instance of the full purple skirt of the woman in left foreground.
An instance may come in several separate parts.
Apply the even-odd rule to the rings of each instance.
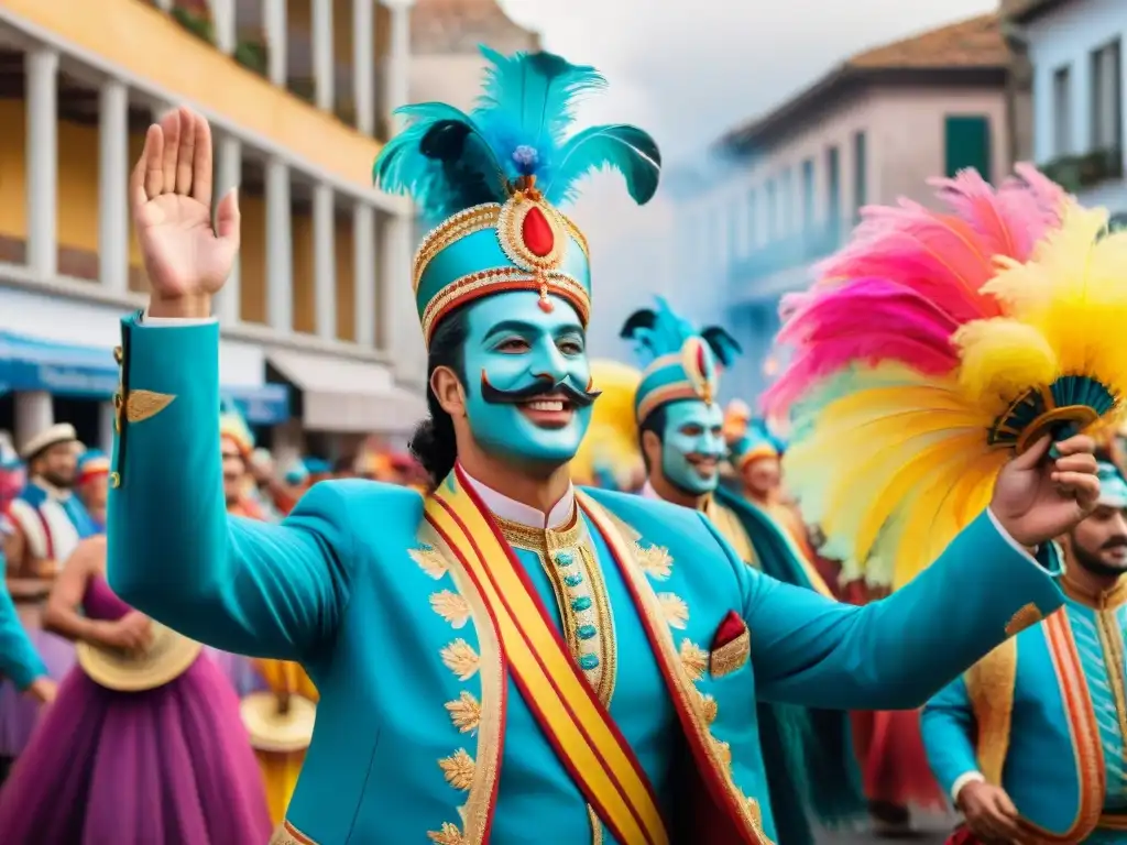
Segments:
[[[206,657],[143,693],[76,667],[0,789],[6,843],[259,845],[270,830],[238,697]]]

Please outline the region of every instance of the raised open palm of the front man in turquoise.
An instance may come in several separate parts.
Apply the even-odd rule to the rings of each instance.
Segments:
[[[231,190],[212,226],[211,127],[178,108],[149,127],[130,179],[133,224],[152,285],[153,317],[211,314],[211,297],[239,251],[239,202]]]

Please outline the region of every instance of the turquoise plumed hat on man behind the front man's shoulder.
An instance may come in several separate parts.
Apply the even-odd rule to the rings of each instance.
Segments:
[[[633,340],[645,367],[635,394],[638,425],[662,406],[684,399],[717,401],[721,367],[730,366],[739,344],[718,326],[698,331],[657,297],[656,309],[635,311],[621,337]]]

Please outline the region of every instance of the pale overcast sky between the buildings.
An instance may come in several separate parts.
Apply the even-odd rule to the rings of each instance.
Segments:
[[[656,136],[666,163],[691,158],[853,53],[997,7],[997,0],[498,1],[542,34],[545,50],[606,77],[609,90],[580,112],[583,122],[636,123]],[[668,273],[668,255],[647,256],[645,270],[631,265],[632,254],[673,242],[671,212],[660,198],[635,208],[621,180],[603,175],[573,210],[593,254],[597,354],[616,350],[615,327],[647,299],[639,288],[669,293],[685,282],[654,275],[657,267]]]

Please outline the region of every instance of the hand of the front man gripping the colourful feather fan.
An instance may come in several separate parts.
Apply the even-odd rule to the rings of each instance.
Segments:
[[[1010,536],[1035,546],[1061,536],[1095,508],[1095,443],[1077,435],[1057,444],[1059,457],[1046,460],[1049,438],[1014,457],[997,477],[991,510]]]

